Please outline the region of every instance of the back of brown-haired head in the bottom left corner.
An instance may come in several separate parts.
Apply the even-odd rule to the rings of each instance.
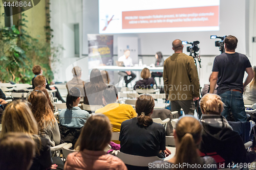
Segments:
[[[8,133],[0,138],[0,169],[28,170],[35,156],[35,142],[24,133]]]

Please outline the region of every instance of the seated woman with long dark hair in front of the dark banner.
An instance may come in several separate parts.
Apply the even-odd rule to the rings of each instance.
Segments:
[[[85,96],[83,103],[86,105],[103,105],[102,92],[106,88],[99,69],[93,69],[90,82],[84,84]]]

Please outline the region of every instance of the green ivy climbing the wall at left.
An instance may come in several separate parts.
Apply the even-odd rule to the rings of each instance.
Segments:
[[[49,17],[50,14],[46,15]],[[54,77],[50,64],[58,62],[59,53],[63,48],[60,45],[51,44],[49,37],[53,35],[49,36],[49,34],[53,31],[52,29],[46,29],[45,42],[31,37],[23,29],[27,27],[26,17],[25,13],[20,13],[17,26],[0,28],[0,81],[31,84],[31,79],[34,77],[32,67],[39,64],[44,71],[44,76],[51,82]]]

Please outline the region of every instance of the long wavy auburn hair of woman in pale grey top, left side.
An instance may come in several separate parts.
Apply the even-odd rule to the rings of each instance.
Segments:
[[[32,113],[38,123],[39,132],[43,132],[48,126],[53,127],[56,121],[53,112],[48,104],[46,95],[40,90],[34,90],[29,95],[28,102],[32,105]]]

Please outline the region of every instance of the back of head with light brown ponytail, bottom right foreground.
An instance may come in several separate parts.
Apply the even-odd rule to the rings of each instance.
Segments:
[[[197,149],[199,143],[201,142],[202,125],[200,124],[199,120],[192,116],[182,117],[176,124],[174,136],[179,142],[176,149],[175,164],[200,164],[201,161],[197,153]],[[185,170],[189,168],[185,166],[183,169]]]

